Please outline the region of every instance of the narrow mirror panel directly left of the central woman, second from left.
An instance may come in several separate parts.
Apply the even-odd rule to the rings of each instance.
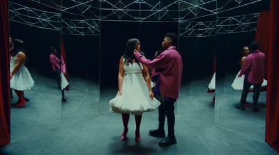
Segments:
[[[100,111],[99,1],[63,1],[62,36],[67,61],[68,90],[62,102],[62,122],[84,120]]]

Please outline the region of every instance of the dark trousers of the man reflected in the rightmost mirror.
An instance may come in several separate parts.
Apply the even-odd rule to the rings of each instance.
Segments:
[[[243,90],[242,90],[242,95],[241,95],[241,105],[244,105],[244,103],[246,102],[246,98],[247,98],[249,88],[251,85],[254,86],[254,88],[253,88],[254,95],[252,97],[253,105],[257,106],[257,101],[259,100],[259,94],[260,94],[262,83],[260,83],[260,84],[250,83],[250,82],[248,82],[247,79],[245,79],[244,83],[243,83]]]

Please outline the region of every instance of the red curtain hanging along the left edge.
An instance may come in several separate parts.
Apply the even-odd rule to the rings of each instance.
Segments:
[[[10,74],[8,1],[0,1],[0,147],[10,143]]]

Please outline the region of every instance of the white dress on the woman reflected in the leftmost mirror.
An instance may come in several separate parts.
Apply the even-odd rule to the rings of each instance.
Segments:
[[[23,54],[22,52],[18,52],[18,54]],[[24,54],[23,54],[24,55]],[[25,56],[25,55],[24,55]],[[13,72],[13,68],[17,65],[17,55],[13,56],[10,59],[10,72]],[[10,79],[10,88],[15,90],[29,90],[33,87],[34,81],[31,77],[31,74],[27,70],[25,65],[21,65],[20,69],[15,72],[13,78]]]

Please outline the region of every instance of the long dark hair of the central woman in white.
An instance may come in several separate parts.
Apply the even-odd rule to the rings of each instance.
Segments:
[[[135,62],[137,63],[137,58],[135,58],[134,50],[137,48],[137,45],[139,44],[139,40],[136,38],[132,38],[128,40],[126,44],[126,49],[123,54],[124,64],[129,65],[129,63],[133,63],[133,59],[135,59]]]

